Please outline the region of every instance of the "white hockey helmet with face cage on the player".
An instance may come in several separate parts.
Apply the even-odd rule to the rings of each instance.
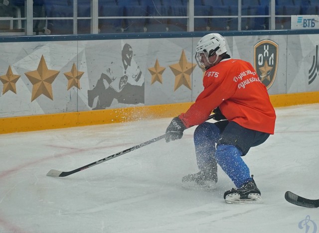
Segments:
[[[227,52],[225,38],[218,33],[207,34],[198,41],[195,51],[197,65],[202,70],[207,70],[215,65],[219,55]],[[210,63],[209,57],[213,56],[215,53],[217,55],[216,59],[213,63]],[[202,56],[205,56],[207,60],[206,64],[202,61]],[[210,66],[207,64],[210,64]]]

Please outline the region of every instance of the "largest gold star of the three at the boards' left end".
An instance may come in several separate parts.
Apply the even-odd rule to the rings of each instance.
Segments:
[[[31,102],[42,94],[53,100],[52,83],[59,73],[60,71],[48,69],[42,55],[38,68],[34,71],[25,73],[26,77],[33,85]]]

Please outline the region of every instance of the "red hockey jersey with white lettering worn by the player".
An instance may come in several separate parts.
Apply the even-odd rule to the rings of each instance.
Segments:
[[[219,107],[229,121],[274,134],[275,110],[265,85],[249,62],[224,59],[206,71],[203,85],[195,103],[179,116],[185,126],[203,123]]]

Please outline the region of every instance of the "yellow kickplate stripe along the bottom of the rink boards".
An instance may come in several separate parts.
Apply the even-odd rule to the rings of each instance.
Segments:
[[[319,92],[272,95],[273,106],[319,103]],[[178,116],[192,103],[0,118],[0,134]]]

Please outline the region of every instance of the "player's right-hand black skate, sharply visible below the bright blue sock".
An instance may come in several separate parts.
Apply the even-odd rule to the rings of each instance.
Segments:
[[[253,179],[253,176],[251,176]],[[224,193],[224,199],[227,203],[243,204],[252,202],[261,202],[260,191],[253,180],[243,184],[240,188],[231,189]]]

